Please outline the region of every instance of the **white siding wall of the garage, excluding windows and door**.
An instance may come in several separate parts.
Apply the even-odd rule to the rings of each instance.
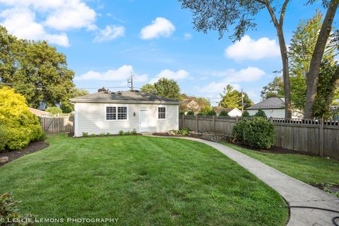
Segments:
[[[126,106],[127,120],[106,120],[106,107]],[[166,107],[166,119],[157,119],[157,107]],[[77,102],[75,107],[75,136],[89,134],[111,133],[119,131],[139,131],[139,109],[148,109],[148,126],[150,132],[169,131],[179,129],[178,105],[150,105],[150,104],[111,104],[111,103],[83,103]],[[136,116],[133,116],[133,113]]]

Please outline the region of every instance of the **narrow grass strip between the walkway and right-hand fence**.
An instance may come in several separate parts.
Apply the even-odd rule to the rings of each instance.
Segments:
[[[338,160],[308,155],[261,153],[256,150],[241,148],[232,143],[222,143],[302,182],[308,184],[339,184]]]

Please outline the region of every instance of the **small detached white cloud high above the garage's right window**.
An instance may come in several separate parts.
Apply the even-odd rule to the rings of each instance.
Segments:
[[[143,40],[150,40],[157,37],[169,37],[174,32],[175,27],[166,18],[158,17],[152,21],[151,25],[145,26],[140,32]]]

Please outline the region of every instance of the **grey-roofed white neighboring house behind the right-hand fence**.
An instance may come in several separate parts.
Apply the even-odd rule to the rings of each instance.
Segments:
[[[253,116],[258,112],[258,109],[262,109],[267,117],[273,118],[285,118],[285,99],[280,97],[270,97],[266,100],[258,102],[256,105],[252,105],[246,109],[249,115]],[[292,119],[302,119],[303,114],[297,109],[292,109]]]

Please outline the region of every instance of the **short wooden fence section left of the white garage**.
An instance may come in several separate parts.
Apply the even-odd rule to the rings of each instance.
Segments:
[[[73,114],[45,114],[39,119],[42,131],[47,134],[73,133]]]

